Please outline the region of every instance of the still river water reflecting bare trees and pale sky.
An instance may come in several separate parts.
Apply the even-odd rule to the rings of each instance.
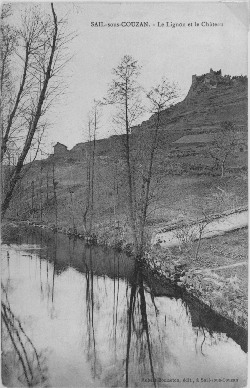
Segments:
[[[246,386],[246,332],[132,258],[31,227],[1,258],[2,363],[24,386]]]

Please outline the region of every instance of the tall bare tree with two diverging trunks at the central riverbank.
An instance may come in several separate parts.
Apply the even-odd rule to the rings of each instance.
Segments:
[[[159,131],[162,125],[161,112],[164,111],[178,96],[177,85],[170,84],[165,78],[161,84],[146,93],[149,101],[148,111],[153,113],[151,130],[138,130],[130,134],[129,128],[145,111],[141,102],[141,88],[137,83],[140,67],[131,56],[124,56],[119,65],[113,69],[115,75],[105,103],[116,105],[114,124],[116,132],[123,129],[120,149],[124,149],[126,164],[127,203],[129,208],[130,229],[136,256],[141,256],[144,245],[144,229],[149,215],[148,207],[155,201],[161,176],[156,172],[155,157],[159,144]],[[122,143],[123,139],[123,143]],[[120,151],[120,155],[122,151]]]

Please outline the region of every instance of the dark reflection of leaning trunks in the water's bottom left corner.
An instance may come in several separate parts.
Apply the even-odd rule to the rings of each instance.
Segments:
[[[13,314],[2,282],[1,293],[2,363],[13,369],[18,379],[28,387],[48,386],[45,356],[37,352],[20,320]]]

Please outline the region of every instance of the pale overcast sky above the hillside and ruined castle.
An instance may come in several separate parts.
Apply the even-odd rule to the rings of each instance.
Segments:
[[[238,5],[230,9],[222,2],[78,4],[77,12],[72,4],[55,3],[58,14],[71,10],[68,30],[78,36],[69,47],[69,54],[75,56],[67,70],[68,95],[63,107],[51,114],[54,124],[48,130],[48,144],[59,141],[71,149],[84,140],[82,129],[91,102],[106,95],[111,70],[125,54],[142,66],[139,82],[145,89],[159,82],[163,74],[178,82],[184,95],[192,74],[201,75],[210,68],[222,69],[223,75],[247,74],[245,4],[239,4],[240,9]],[[148,22],[150,27],[91,26],[91,22],[132,21]],[[164,27],[157,27],[158,22]],[[186,27],[165,27],[166,22],[185,23]],[[223,27],[202,27],[202,22],[223,23]],[[109,137],[110,121],[110,109],[104,108],[99,138]]]

